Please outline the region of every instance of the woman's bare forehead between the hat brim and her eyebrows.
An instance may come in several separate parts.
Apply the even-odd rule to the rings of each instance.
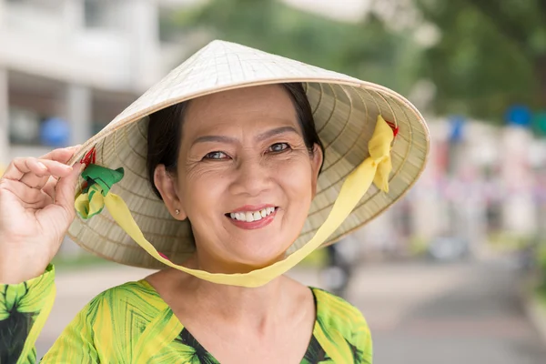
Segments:
[[[280,85],[252,86],[218,92],[190,101],[184,129],[221,124],[285,121],[297,122],[288,91]]]

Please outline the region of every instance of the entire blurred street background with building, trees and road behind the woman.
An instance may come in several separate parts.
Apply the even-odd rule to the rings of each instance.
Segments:
[[[395,207],[291,273],[369,320],[378,363],[546,363],[544,0],[0,0],[0,168],[94,135],[212,39],[408,96],[429,165]],[[66,239],[44,354],[147,271]]]

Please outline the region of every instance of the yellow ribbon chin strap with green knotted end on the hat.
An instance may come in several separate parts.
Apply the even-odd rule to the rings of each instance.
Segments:
[[[382,116],[378,116],[373,136],[369,140],[369,157],[357,167],[343,182],[339,196],[332,207],[328,218],[319,227],[317,233],[308,243],[287,258],[272,264],[266,268],[260,268],[248,273],[222,274],[208,273],[204,270],[190,269],[179,266],[157,252],[156,248],[147,241],[140,228],[136,225],[125,201],[110,193],[110,187],[123,177],[123,169],[111,170],[106,167],[90,165],[82,173],[86,178],[87,186],[76,196],[76,211],[82,218],[89,218],[100,213],[106,206],[117,224],[133,238],[136,243],[144,248],[148,254],[164,263],[168,267],[176,268],[197,278],[207,281],[240,287],[259,287],[267,284],[274,278],[286,273],[290,268],[306,258],[313,250],[319,248],[322,243],[338,228],[349,216],[352,209],[359,203],[368,188],[374,183],[384,192],[389,192],[389,174],[392,169],[390,162],[390,148],[395,134]],[[100,177],[91,177],[97,168],[106,172],[100,173]]]

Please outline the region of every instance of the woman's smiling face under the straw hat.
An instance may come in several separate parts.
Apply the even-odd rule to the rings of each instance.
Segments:
[[[322,162],[309,154],[282,86],[254,86],[190,102],[177,177],[179,217],[211,270],[243,272],[283,258],[298,238]]]

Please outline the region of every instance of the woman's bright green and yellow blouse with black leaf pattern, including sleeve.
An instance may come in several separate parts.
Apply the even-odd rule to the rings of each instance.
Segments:
[[[0,284],[0,364],[35,363],[35,340],[55,296],[55,270],[17,285]],[[371,363],[365,319],[318,288],[317,319],[301,363]],[[80,311],[42,363],[188,363],[218,361],[184,328],[146,280],[110,288]]]

